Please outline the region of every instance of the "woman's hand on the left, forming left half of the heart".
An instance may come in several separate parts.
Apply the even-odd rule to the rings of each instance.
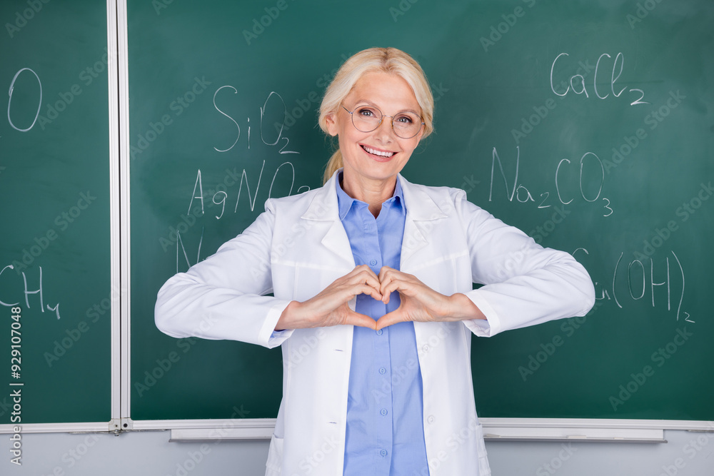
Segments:
[[[348,302],[359,294],[382,300],[379,279],[368,265],[354,268],[336,279],[314,298],[302,303],[291,301],[278,319],[276,330],[327,327],[330,325],[361,325],[374,329],[375,320],[356,313]]]

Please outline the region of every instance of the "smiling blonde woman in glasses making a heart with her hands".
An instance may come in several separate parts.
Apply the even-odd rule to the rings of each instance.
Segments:
[[[400,175],[432,118],[411,56],[352,56],[321,105],[320,126],[339,141],[326,184],[269,199],[246,231],[159,291],[156,325],[169,335],[281,345],[266,475],[489,475],[471,333],[594,303],[570,255],[461,190]]]

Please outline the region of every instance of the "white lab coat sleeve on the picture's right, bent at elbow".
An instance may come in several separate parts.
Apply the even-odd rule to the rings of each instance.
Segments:
[[[509,329],[585,315],[595,303],[590,275],[563,251],[543,248],[526,233],[508,226],[454,193],[461,216],[474,283],[465,293],[486,320],[465,320],[476,335],[490,337]]]

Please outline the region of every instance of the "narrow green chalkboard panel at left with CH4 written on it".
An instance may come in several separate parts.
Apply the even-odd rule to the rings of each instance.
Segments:
[[[106,5],[3,1],[0,19],[0,423],[108,422]]]

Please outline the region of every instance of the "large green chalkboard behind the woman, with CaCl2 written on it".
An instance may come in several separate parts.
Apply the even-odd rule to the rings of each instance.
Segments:
[[[404,175],[456,186],[595,282],[586,318],[473,340],[483,417],[714,420],[708,1],[129,1],[131,417],[275,417],[279,350],[176,340],[156,292],[268,196],[320,186],[326,81],[411,53],[436,133]]]

